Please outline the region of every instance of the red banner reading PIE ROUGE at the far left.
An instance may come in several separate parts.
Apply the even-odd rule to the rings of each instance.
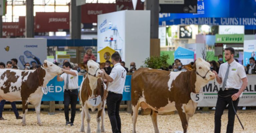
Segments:
[[[20,37],[23,32],[20,32],[18,22],[3,22],[3,37]]]

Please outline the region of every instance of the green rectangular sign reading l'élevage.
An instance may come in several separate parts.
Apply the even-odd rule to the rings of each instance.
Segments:
[[[244,34],[216,34],[216,43],[244,43]]]

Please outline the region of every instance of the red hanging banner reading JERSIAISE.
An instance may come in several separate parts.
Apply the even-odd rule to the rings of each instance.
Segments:
[[[36,12],[35,32],[61,32],[69,29],[68,12]]]

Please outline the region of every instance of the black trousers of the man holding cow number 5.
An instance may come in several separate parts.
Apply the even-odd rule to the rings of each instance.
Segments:
[[[239,90],[225,90],[222,91],[220,90],[218,92],[219,95],[221,96],[227,96],[230,94],[235,94],[237,93]],[[220,133],[220,128],[221,128],[221,116],[223,114],[223,111],[225,109],[225,107],[228,104],[228,125],[227,125],[227,133],[233,133],[234,130],[234,121],[235,121],[235,111],[233,109],[232,106],[232,98],[230,97],[226,97],[226,98],[222,98],[220,96],[218,96],[218,100],[216,103],[216,109],[215,109],[215,118],[214,118],[214,123],[215,123],[215,127],[214,127],[214,133]],[[233,101],[233,105],[235,110],[237,111],[237,105],[239,102],[239,98],[235,101]]]

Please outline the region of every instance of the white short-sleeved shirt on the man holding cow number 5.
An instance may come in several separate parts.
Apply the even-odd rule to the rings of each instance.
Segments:
[[[220,65],[218,76],[222,79],[222,83],[220,85],[221,88],[222,88],[222,84],[224,82],[224,78],[225,78],[227,69],[228,69],[228,62]],[[243,79],[245,77],[246,77],[246,73],[244,70],[244,66],[234,60],[232,63],[230,63],[229,73],[228,73],[228,78],[226,81],[225,88],[240,89],[243,84],[241,79]]]

